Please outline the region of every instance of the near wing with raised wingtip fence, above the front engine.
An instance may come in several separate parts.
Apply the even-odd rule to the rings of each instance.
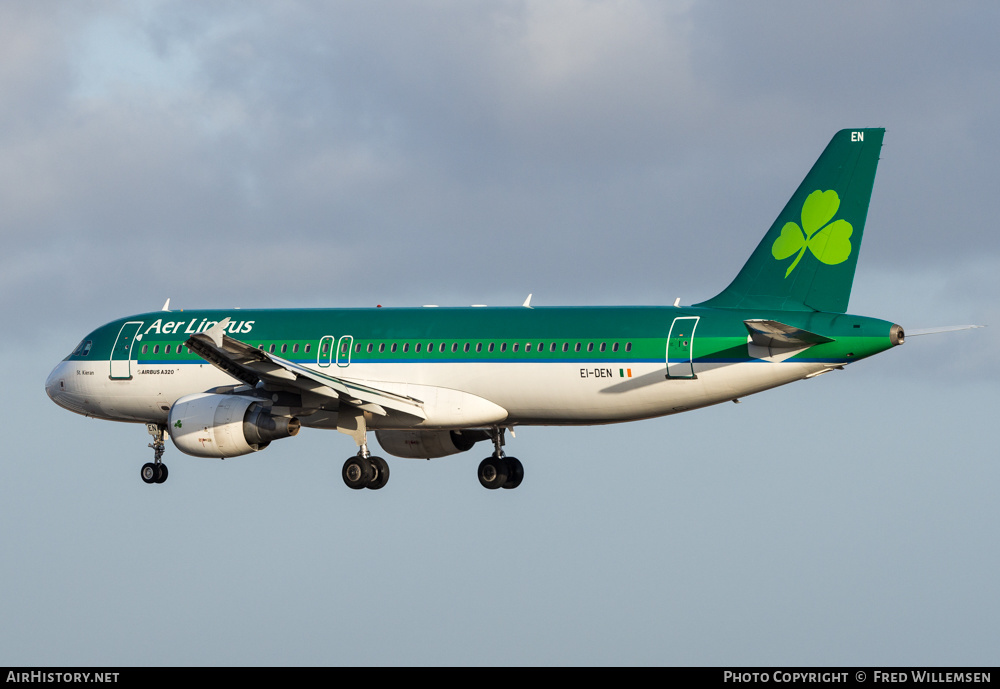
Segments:
[[[247,385],[263,383],[269,389],[292,388],[363,411],[386,416],[386,409],[426,419],[423,402],[406,395],[330,376],[240,342],[226,334],[229,318],[188,338],[185,345],[205,361]]]

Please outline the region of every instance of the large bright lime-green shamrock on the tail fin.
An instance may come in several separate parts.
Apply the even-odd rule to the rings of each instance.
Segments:
[[[833,220],[840,208],[840,197],[832,189],[817,189],[802,204],[802,227],[793,222],[785,223],[781,236],[771,245],[771,255],[783,261],[798,252],[785,271],[787,278],[802,260],[808,248],[817,259],[828,266],[837,265],[851,255],[851,233],[854,228],[846,220]]]

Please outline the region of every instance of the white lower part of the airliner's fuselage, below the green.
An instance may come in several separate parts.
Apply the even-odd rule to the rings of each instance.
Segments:
[[[423,403],[424,420],[374,416],[371,428],[433,429],[644,419],[736,399],[830,368],[822,362],[755,360],[696,366],[696,378],[668,378],[663,363],[539,361],[359,363],[338,373]],[[131,379],[111,379],[107,360],[64,361],[50,374],[46,391],[60,406],[87,416],[162,424],[179,398],[239,382],[204,362],[132,362],[132,370]],[[302,416],[301,421],[335,427],[336,411]]]

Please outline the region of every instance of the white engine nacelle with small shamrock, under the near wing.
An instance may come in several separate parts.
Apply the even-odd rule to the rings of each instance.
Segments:
[[[181,397],[168,416],[170,439],[195,457],[239,457],[299,432],[294,416],[272,416],[260,400],[202,392]]]

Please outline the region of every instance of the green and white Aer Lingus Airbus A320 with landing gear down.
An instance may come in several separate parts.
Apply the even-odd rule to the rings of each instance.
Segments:
[[[80,342],[45,390],[85,416],[144,423],[163,483],[181,452],[259,452],[301,427],[358,450],[352,489],[386,485],[369,451],[436,458],[491,443],[489,489],[516,488],[517,426],[650,419],[814,378],[903,344],[903,328],[846,313],[885,130],[845,129],[732,283],[691,306],[169,309],[120,318]],[[513,433],[512,433],[513,434]]]

